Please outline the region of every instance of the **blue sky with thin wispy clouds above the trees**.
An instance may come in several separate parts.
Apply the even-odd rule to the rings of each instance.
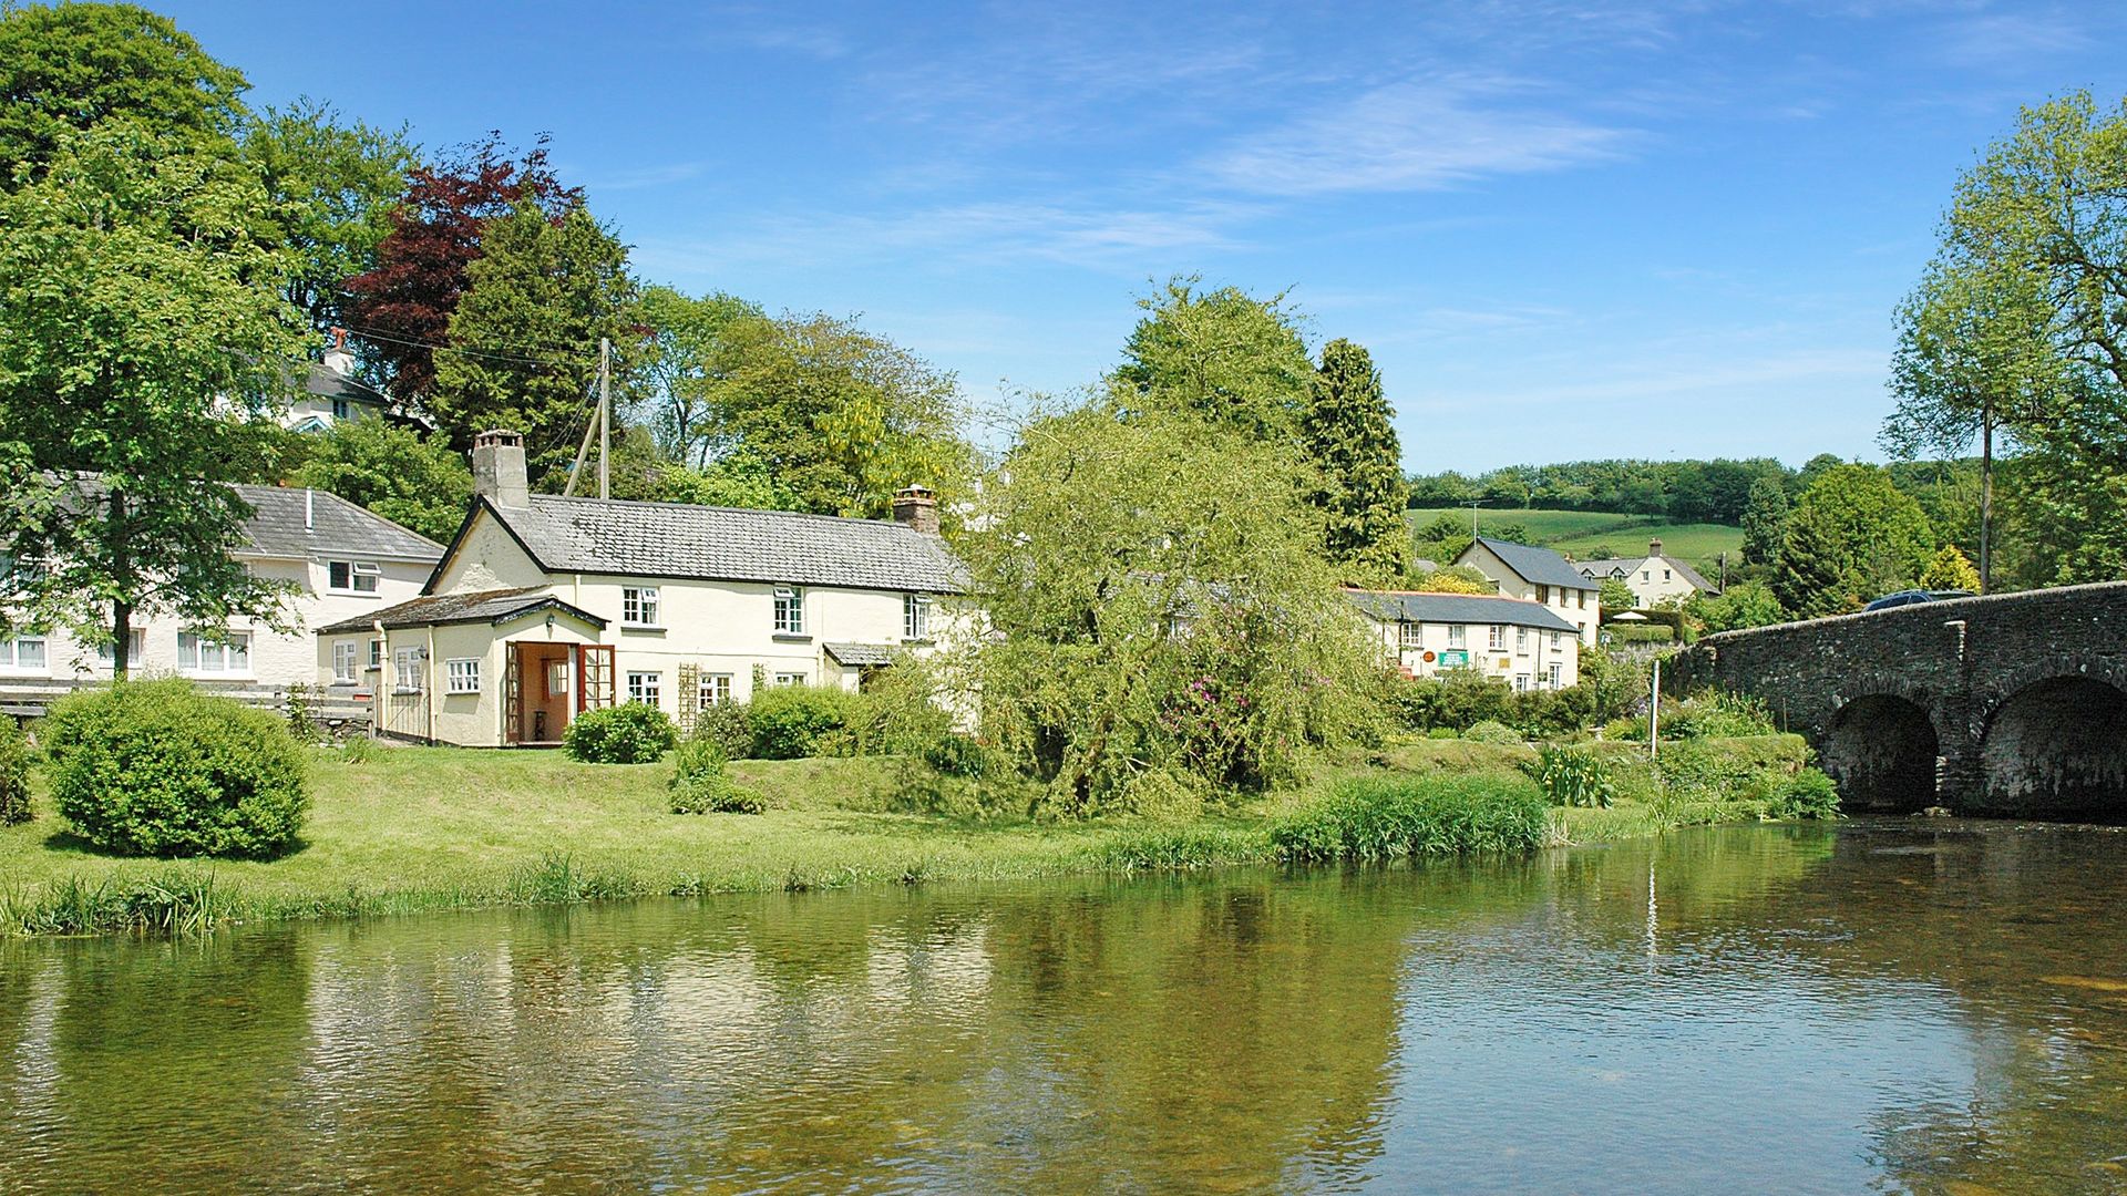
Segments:
[[[1368,345],[1412,470],[1876,455],[1891,309],[2127,6],[166,4],[253,102],[553,134],[647,281],[861,315],[976,404],[1153,279]]]

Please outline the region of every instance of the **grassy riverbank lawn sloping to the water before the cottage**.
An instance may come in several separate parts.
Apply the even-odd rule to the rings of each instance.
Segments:
[[[1625,762],[1634,749],[1606,751]],[[1799,760],[1799,741],[1727,741],[1721,755]],[[738,762],[736,777],[768,796],[768,813],[672,815],[670,764],[423,747],[355,764],[319,751],[304,843],[279,860],[100,856],[38,796],[36,821],[0,828],[0,934],[1266,864],[1280,858],[1278,828],[1319,811],[1344,781],[1521,785],[1514,764],[1525,758],[1525,747],[1414,743],[1325,766],[1295,792],[1187,817],[1057,824],[927,813],[953,802],[912,766],[881,758]],[[1755,815],[1748,802],[1634,800],[1627,785],[1612,809],[1553,811],[1548,836],[1623,838]]]

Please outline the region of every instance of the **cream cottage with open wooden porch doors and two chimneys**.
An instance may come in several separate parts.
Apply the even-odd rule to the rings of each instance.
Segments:
[[[385,734],[557,743],[587,709],[689,726],[755,685],[842,685],[929,651],[966,589],[927,489],[893,519],[530,494],[523,438],[483,432],[474,500],[419,598],[323,626],[319,666]]]

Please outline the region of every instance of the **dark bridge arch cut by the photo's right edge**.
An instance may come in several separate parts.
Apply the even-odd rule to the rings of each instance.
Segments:
[[[1980,811],[2127,821],[2127,692],[2046,677],[1993,707],[1980,736]]]

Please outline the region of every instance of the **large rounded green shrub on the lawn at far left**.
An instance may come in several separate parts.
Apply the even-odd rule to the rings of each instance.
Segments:
[[[45,751],[60,817],[106,851],[270,856],[311,807],[283,719],[181,679],[62,698]]]

